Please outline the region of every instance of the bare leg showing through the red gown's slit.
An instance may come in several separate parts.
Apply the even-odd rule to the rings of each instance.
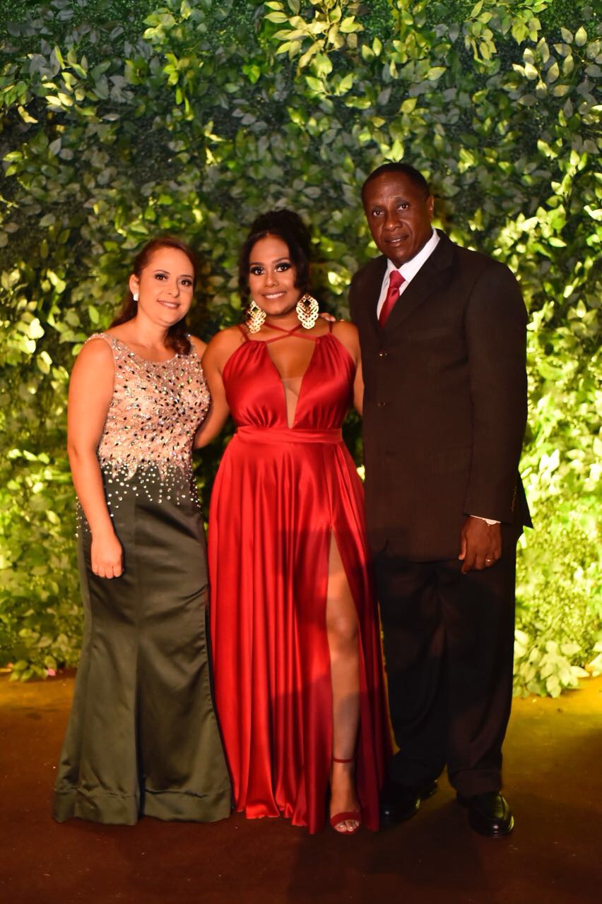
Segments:
[[[330,814],[333,815],[360,809],[354,782],[354,754],[360,719],[358,622],[334,535],[328,557],[326,630],[333,683],[333,757],[351,759],[349,763],[333,762],[330,783]],[[357,821],[346,820],[339,823],[336,830],[345,833],[356,826]]]

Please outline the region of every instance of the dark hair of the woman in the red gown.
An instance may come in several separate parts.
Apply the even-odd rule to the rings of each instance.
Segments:
[[[301,295],[309,291],[309,259],[311,238],[306,224],[294,211],[279,210],[261,213],[252,223],[249,235],[240,249],[239,290],[243,304],[249,301],[249,260],[250,253],[259,239],[276,235],[287,246],[288,256],[296,269],[295,286]]]

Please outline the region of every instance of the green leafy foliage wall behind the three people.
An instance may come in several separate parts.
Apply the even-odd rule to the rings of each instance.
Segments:
[[[169,231],[202,251],[194,328],[240,316],[257,212],[312,224],[325,306],[374,249],[359,188],[418,166],[454,240],[509,264],[531,311],[519,692],[594,660],[602,175],[599,21],[566,0],[12,0],[0,16],[0,645],[15,675],[80,633],[65,399],[130,259]],[[358,446],[357,424],[349,433]],[[199,463],[207,491],[219,449]],[[598,656],[597,661],[599,662]]]

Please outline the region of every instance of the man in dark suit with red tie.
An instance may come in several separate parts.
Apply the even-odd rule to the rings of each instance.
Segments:
[[[390,715],[384,824],[447,764],[475,831],[508,834],[500,794],[513,683],[518,474],[526,423],[521,291],[503,264],[432,228],[424,177],[385,164],[362,189],[382,257],[353,278],[363,443]]]

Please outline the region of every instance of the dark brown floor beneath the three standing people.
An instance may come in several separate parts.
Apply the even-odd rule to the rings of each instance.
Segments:
[[[442,779],[397,829],[310,837],[283,820],[97,826],[50,816],[72,677],[0,678],[3,904],[589,904],[602,900],[602,678],[514,703],[505,745],[516,829],[486,840]]]

